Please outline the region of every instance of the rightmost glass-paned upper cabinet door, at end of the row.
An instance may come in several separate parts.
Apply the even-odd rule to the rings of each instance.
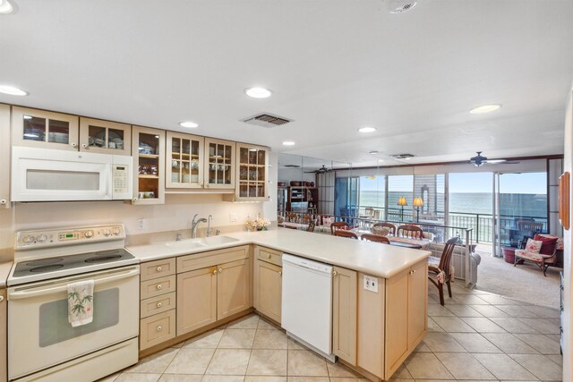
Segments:
[[[268,150],[244,143],[236,144],[236,199],[268,199],[269,181]]]

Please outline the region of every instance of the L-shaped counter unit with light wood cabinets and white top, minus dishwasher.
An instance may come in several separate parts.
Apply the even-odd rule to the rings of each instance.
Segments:
[[[427,330],[429,251],[282,228],[128,250],[141,260],[141,355],[253,308],[280,324],[282,253],[334,266],[333,353],[364,376],[389,379]]]

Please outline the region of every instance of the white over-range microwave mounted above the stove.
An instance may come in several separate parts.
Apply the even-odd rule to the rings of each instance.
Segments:
[[[132,199],[133,157],[14,146],[13,201]]]

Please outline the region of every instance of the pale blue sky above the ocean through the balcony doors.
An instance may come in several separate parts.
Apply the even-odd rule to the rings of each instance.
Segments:
[[[394,191],[412,191],[413,175],[392,176]],[[547,193],[546,173],[501,174],[501,193]],[[362,191],[384,191],[384,177],[361,177]],[[492,173],[451,173],[449,192],[492,192]]]

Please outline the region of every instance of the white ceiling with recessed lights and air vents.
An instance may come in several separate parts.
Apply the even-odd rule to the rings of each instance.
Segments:
[[[569,0],[421,0],[398,15],[381,0],[13,2],[0,83],[30,96],[0,102],[177,131],[192,120],[197,134],[353,166],[563,152]],[[273,97],[247,98],[254,85]],[[502,107],[468,113],[490,103]],[[263,111],[295,122],[239,122]]]

